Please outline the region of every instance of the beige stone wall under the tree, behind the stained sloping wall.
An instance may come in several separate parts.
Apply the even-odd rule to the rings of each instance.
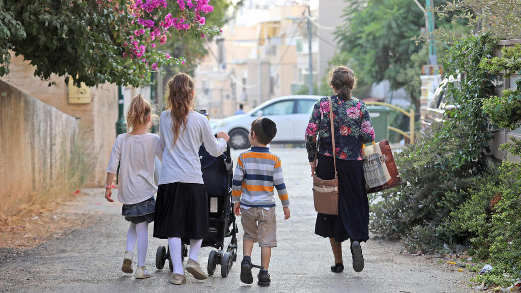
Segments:
[[[9,69],[9,75],[2,77],[1,80],[61,112],[78,118],[78,143],[85,149],[88,160],[94,164],[93,168],[88,170],[90,175],[86,184],[104,185],[110,149],[116,138],[117,86],[107,83],[91,88],[90,103],[70,104],[65,78],[53,75],[51,80],[42,81],[34,76],[34,67],[24,61],[22,56],[13,57]],[[49,86],[49,82],[56,84]]]

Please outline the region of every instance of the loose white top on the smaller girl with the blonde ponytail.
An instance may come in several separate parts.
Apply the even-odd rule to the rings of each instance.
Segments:
[[[154,159],[162,157],[159,137],[154,133],[131,135],[123,133],[116,138],[110,152],[107,172],[118,175],[118,200],[134,204],[149,199],[157,192],[154,185]]]

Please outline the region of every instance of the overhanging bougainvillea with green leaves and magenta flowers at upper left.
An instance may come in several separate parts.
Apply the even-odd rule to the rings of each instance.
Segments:
[[[5,0],[0,2],[0,76],[11,51],[35,66],[35,76],[75,77],[142,86],[150,72],[182,64],[155,49],[171,36],[205,38],[209,0]]]

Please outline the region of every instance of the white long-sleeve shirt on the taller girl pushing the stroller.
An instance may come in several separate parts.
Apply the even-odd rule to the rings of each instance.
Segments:
[[[163,111],[159,118],[159,145],[163,153],[163,165],[159,184],[186,182],[203,184],[199,147],[204,142],[210,155],[219,156],[226,151],[226,141],[216,139],[206,116],[190,111],[187,128],[181,125],[181,133],[173,144],[172,117]]]

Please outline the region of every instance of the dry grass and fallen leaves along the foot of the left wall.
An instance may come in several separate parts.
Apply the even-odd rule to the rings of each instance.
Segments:
[[[49,237],[87,226],[84,216],[67,209],[67,203],[81,195],[86,176],[92,174],[97,159],[97,154],[86,154],[85,145],[78,141],[85,140],[61,141],[58,162],[53,162],[59,166],[59,172],[50,182],[37,186],[29,202],[21,204],[14,215],[0,215],[0,247],[29,249]]]

